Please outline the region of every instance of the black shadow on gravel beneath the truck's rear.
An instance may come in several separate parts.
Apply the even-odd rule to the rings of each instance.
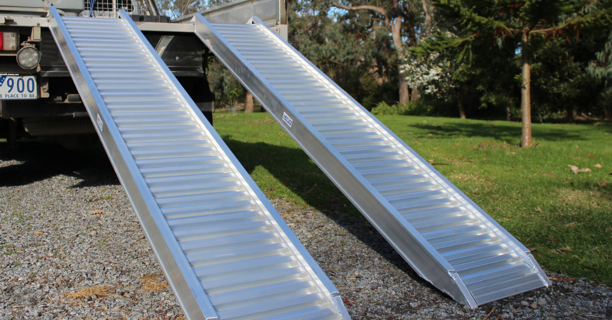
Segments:
[[[42,138],[21,139],[15,149],[0,143],[0,187],[28,185],[63,174],[81,182],[73,187],[119,185],[108,157],[101,144],[91,150],[70,151]]]

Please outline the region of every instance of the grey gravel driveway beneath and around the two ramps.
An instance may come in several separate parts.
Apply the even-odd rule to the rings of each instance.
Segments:
[[[612,290],[553,287],[471,310],[419,278],[364,219],[272,201],[353,319],[612,319]],[[0,319],[184,319],[102,149],[0,143]]]

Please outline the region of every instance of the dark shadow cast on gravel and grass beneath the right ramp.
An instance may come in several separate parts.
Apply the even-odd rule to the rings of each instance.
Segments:
[[[283,185],[304,199],[308,206],[323,212],[412,280],[446,296],[412,270],[304,151],[266,143],[244,143],[232,140],[229,136],[224,136],[223,140],[248,173],[252,173],[256,166],[263,166]]]

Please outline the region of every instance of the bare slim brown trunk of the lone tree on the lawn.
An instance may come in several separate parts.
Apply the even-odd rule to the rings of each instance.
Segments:
[[[522,40],[523,86],[521,86],[521,117],[523,120],[523,136],[521,136],[521,147],[531,147],[531,56],[529,53],[529,31],[523,31]]]

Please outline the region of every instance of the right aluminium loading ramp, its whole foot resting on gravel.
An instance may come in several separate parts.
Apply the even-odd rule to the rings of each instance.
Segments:
[[[198,37],[422,277],[472,308],[550,285],[527,248],[257,17],[194,21]]]

